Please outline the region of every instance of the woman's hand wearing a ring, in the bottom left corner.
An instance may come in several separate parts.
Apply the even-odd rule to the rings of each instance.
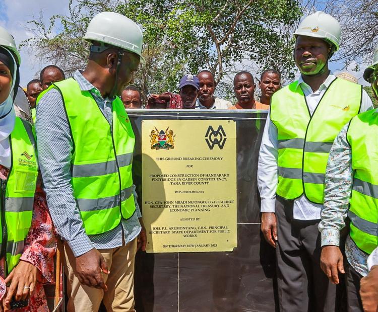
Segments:
[[[38,269],[29,262],[20,261],[18,265],[5,279],[5,283],[11,282],[7,293],[3,298],[4,309],[11,308],[12,297],[15,296],[17,301],[25,300],[34,291],[37,282]]]

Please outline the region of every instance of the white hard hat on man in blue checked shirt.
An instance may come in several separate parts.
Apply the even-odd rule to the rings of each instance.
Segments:
[[[101,12],[89,22],[83,37],[86,41],[97,41],[134,52],[142,56],[143,34],[139,26],[131,19],[115,13]]]

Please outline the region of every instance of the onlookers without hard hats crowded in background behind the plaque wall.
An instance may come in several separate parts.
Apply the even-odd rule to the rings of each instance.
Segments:
[[[42,69],[40,79],[31,80],[26,87],[27,98],[35,119],[35,101],[38,95],[51,83],[65,79],[64,72],[55,65]],[[254,76],[248,71],[240,71],[234,78],[235,105],[214,96],[216,83],[210,70],[202,70],[197,75],[184,75],[179,84],[179,94],[166,92],[151,94],[147,104],[143,104],[141,90],[127,86],[120,94],[125,109],[269,109],[272,95],[281,88],[281,74],[270,68],[260,76],[261,102],[255,99]],[[35,121],[35,120],[34,120]]]

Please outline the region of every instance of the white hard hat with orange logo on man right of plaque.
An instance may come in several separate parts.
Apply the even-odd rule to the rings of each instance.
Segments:
[[[322,11],[307,16],[294,32],[295,37],[307,36],[324,39],[339,49],[341,28],[339,22],[329,14]]]

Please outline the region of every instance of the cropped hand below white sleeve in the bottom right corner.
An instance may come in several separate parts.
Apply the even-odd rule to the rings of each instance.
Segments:
[[[360,295],[365,312],[378,311],[378,265],[374,265],[369,274],[361,279]]]

